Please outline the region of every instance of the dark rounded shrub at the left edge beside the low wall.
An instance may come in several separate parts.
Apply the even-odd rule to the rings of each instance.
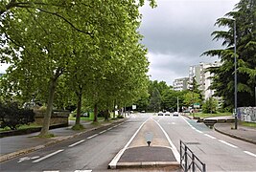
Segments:
[[[19,109],[15,102],[0,102],[0,128],[10,127],[16,130],[17,127],[24,124],[30,124],[35,121],[35,113],[30,109]]]

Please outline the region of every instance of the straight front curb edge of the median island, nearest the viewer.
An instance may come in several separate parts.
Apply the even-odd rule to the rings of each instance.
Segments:
[[[140,162],[118,162],[116,168],[150,168],[150,167],[174,167],[180,168],[177,161],[140,161]]]

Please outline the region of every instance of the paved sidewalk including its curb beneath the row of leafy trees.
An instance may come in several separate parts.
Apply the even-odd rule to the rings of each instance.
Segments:
[[[68,127],[62,127],[62,128],[50,130],[50,132],[56,136],[51,139],[43,139],[43,138],[35,137],[39,134],[39,132],[27,134],[27,135],[1,138],[0,139],[0,162],[8,161],[19,155],[33,152],[35,150],[44,148],[51,144],[58,143],[59,141],[62,141],[62,140],[75,138],[85,132],[95,130],[102,126],[110,125],[114,122],[119,122],[121,120],[124,120],[124,119],[113,120],[112,122],[107,122],[107,123],[102,121],[100,126],[95,126],[90,121],[89,122],[81,121],[81,124],[85,128],[85,130],[83,131],[72,130],[71,127],[74,125],[74,121],[70,121]]]

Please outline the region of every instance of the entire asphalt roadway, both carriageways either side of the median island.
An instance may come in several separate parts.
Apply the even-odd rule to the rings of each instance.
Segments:
[[[200,161],[206,163],[207,171],[256,170],[255,144],[226,137],[204,124],[181,116],[135,114],[126,122],[87,132],[75,139],[63,141],[12,161],[2,162],[0,171],[115,171],[107,170],[108,163],[148,118],[153,118],[162,127],[177,150],[180,140],[186,142]]]

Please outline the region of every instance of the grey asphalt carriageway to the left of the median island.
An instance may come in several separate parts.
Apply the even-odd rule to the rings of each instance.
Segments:
[[[105,171],[145,118],[88,132],[23,157],[0,163],[0,171]]]

